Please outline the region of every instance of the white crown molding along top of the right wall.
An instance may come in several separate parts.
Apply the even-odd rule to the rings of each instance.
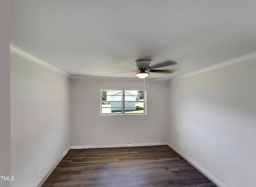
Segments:
[[[204,74],[206,72],[211,72],[211,71],[214,71],[214,70],[218,70],[218,69],[221,69],[221,68],[225,68],[227,66],[232,66],[234,64],[246,62],[247,60],[251,60],[251,59],[254,59],[254,58],[256,58],[256,52],[246,54],[244,56],[240,56],[240,57],[237,57],[237,58],[233,58],[231,60],[226,60],[224,62],[220,62],[218,64],[214,64],[212,66],[208,66],[206,68],[202,68],[200,70],[196,70],[196,71],[188,73],[188,74],[184,74],[182,76],[178,76],[176,78],[173,78],[169,81],[178,80],[178,79],[182,79],[182,78],[187,78],[187,77],[195,76],[195,75],[199,75],[199,74]]]

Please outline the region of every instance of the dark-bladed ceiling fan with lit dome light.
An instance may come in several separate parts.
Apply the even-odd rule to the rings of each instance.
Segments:
[[[172,74],[173,72],[175,72],[174,70],[155,70],[155,69],[177,64],[177,62],[175,62],[173,60],[166,60],[166,61],[156,64],[154,66],[149,66],[150,62],[151,62],[151,59],[139,59],[139,60],[135,61],[135,64],[136,64],[138,70],[134,71],[134,72],[137,72],[136,76],[138,78],[144,79],[144,78],[148,77],[149,72]]]

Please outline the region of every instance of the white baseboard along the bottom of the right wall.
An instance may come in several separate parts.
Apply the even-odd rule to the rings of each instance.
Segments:
[[[196,163],[196,161],[191,159],[188,155],[186,155],[182,151],[176,149],[169,143],[167,145],[169,147],[171,147],[174,151],[176,151],[180,156],[182,156],[186,161],[188,161],[188,163],[190,163],[192,166],[194,166],[198,171],[200,171],[204,176],[206,176],[208,179],[210,179],[210,181],[212,181],[215,185],[217,185],[218,187],[227,187],[226,185],[224,185],[224,183],[222,183],[220,180],[218,180],[216,177],[214,177],[214,175],[212,175],[210,172],[208,172],[206,169],[204,169],[202,166],[200,166],[198,163]]]

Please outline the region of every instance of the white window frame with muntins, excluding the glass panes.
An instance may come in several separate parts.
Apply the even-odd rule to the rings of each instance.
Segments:
[[[122,92],[122,99],[121,101],[102,101],[102,91],[103,90],[106,90],[107,89],[100,89],[100,115],[146,115],[146,90],[120,90]],[[108,90],[113,90],[113,89],[108,89]],[[119,91],[118,89],[116,89],[116,91]],[[125,101],[125,91],[144,91],[144,100],[143,101]],[[108,95],[106,95],[108,96]],[[122,103],[122,112],[121,113],[102,113],[102,103],[104,102],[111,102],[111,103]],[[134,103],[134,102],[139,102],[139,103],[144,103],[143,104],[143,107],[144,107],[144,113],[125,113],[125,108],[128,108],[128,107],[125,107],[125,103]],[[105,108],[113,108],[113,107],[105,107]],[[121,107],[116,107],[116,108],[121,108]]]

